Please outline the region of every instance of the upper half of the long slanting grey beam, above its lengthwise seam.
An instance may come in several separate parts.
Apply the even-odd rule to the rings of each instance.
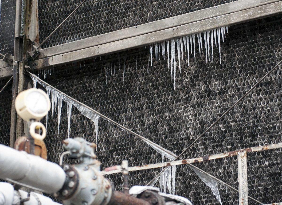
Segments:
[[[78,41],[73,41],[70,43],[64,43],[46,49],[39,49],[40,51],[39,59],[58,55],[58,54],[68,53],[75,50],[85,49],[93,46],[98,46],[105,43],[111,43],[126,38],[136,37],[143,34],[148,34],[180,25],[185,25],[188,23],[202,21],[205,19],[230,14],[233,12],[254,8],[257,6],[262,6],[269,3],[274,3],[277,1],[280,0],[263,0],[263,1],[239,0],[239,1],[234,1],[232,3],[213,6],[199,11],[190,12],[187,14],[182,14],[179,16],[174,16],[158,21],[153,21],[150,23],[138,25],[131,28],[125,28],[122,30],[118,30],[98,36],[93,36]]]

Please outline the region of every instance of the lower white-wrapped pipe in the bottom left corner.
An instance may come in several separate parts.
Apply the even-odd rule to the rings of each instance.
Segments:
[[[0,205],[21,204],[21,199],[27,199],[28,193],[23,190],[14,191],[14,187],[5,182],[0,182]],[[29,200],[23,202],[24,205],[62,205],[58,204],[49,197],[30,192]]]

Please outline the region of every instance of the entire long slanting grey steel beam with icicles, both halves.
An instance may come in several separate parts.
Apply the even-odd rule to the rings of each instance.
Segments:
[[[239,2],[243,3],[244,1],[245,0],[235,1],[233,3],[239,3]],[[144,45],[149,45],[149,44],[160,42],[160,41],[166,41],[166,40],[172,39],[172,38],[179,38],[179,37],[182,37],[182,36],[196,34],[196,33],[204,32],[204,31],[207,31],[207,30],[212,30],[212,29],[215,29],[215,28],[220,28],[220,27],[227,26],[227,25],[243,23],[243,22],[246,22],[246,21],[259,19],[259,18],[271,16],[271,15],[278,14],[278,13],[282,12],[282,1],[281,0],[279,0],[279,1],[277,1],[277,0],[274,0],[274,1],[273,0],[269,0],[269,1],[267,1],[267,0],[265,0],[265,1],[251,0],[251,1],[249,1],[248,0],[246,2],[248,2],[249,4],[252,4],[252,3],[255,2],[256,6],[253,7],[253,8],[244,9],[244,8],[247,8],[247,5],[245,5],[246,7],[242,8],[238,4],[237,6],[239,6],[240,10],[236,11],[236,12],[234,12],[234,9],[235,9],[236,6],[234,6],[235,4],[233,4],[233,3],[224,4],[225,6],[229,5],[229,6],[226,6],[226,7],[220,7],[220,6],[212,7],[212,8],[209,8],[210,12],[212,11],[212,9],[215,9],[215,8],[225,8],[225,10],[223,11],[221,9],[220,10],[221,13],[219,11],[217,11],[216,15],[218,15],[218,16],[211,17],[211,18],[204,19],[204,20],[199,18],[199,16],[208,15],[208,14],[206,14],[207,9],[197,11],[197,13],[191,12],[189,14],[183,14],[183,15],[191,15],[191,17],[194,16],[193,22],[183,24],[184,20],[181,20],[180,21],[181,23],[179,23],[179,24],[183,24],[183,25],[179,25],[178,23],[175,23],[174,27],[166,28],[166,29],[163,29],[163,30],[158,30],[158,31],[155,31],[155,32],[150,32],[150,33],[146,33],[146,34],[142,34],[142,35],[140,35],[138,32],[136,32],[138,34],[138,36],[133,36],[133,37],[121,39],[121,40],[115,40],[115,41],[112,41],[112,42],[109,42],[109,43],[103,43],[101,45],[96,45],[96,46],[92,46],[92,47],[85,48],[85,49],[74,50],[74,51],[70,50],[70,49],[75,49],[74,47],[83,48],[85,46],[85,44],[87,44],[86,41],[88,41],[88,39],[84,39],[83,41],[81,40],[81,41],[72,42],[72,44],[69,44],[71,46],[67,46],[67,49],[65,51],[63,51],[64,49],[60,51],[60,49],[58,49],[60,46],[56,47],[56,49],[54,49],[54,47],[51,47],[51,48],[48,48],[48,49],[42,49],[42,51],[44,50],[43,55],[45,55],[47,57],[36,60],[33,63],[33,65],[34,65],[34,68],[37,68],[37,69],[46,69],[46,68],[53,67],[53,66],[58,66],[58,65],[63,65],[63,64],[75,62],[75,61],[93,58],[93,57],[96,57],[96,56],[102,56],[102,55],[120,52],[120,51],[124,51],[124,50],[128,50],[128,49],[134,49],[134,48],[137,48],[137,47],[142,47]],[[271,3],[271,2],[274,2],[274,3]],[[260,3],[264,3],[264,5],[258,6],[258,5],[260,5]],[[221,5],[221,6],[224,6],[224,5]],[[228,10],[232,10],[232,12],[228,13]],[[201,13],[201,12],[203,12],[203,13]],[[223,14],[223,15],[221,15],[221,14]],[[183,15],[181,15],[182,17],[180,19],[184,19]],[[196,18],[195,16],[197,16],[197,18],[199,19],[198,21],[195,20],[195,18]],[[210,14],[210,16],[212,16],[212,14]],[[176,17],[173,17],[174,19],[173,18],[172,19],[169,18],[169,19],[173,22],[173,20],[177,20],[177,18],[179,19],[179,17],[180,16],[176,16]],[[164,19],[164,20],[166,20],[166,19]],[[168,22],[170,22],[170,21],[168,21]],[[189,22],[189,21],[187,21],[187,22]],[[148,25],[149,24],[147,24],[147,30],[149,30]],[[155,24],[151,24],[151,25],[155,25]],[[146,29],[146,27],[144,27],[144,29]],[[160,29],[160,28],[158,28],[158,29]],[[122,32],[122,31],[119,31],[119,32]],[[106,35],[106,34],[104,34],[104,35]],[[110,33],[107,34],[107,35],[110,35]],[[130,36],[130,35],[131,34],[128,34],[128,36]],[[98,38],[98,37],[100,38],[100,36],[96,36],[95,38]],[[91,37],[91,38],[94,38],[94,37]],[[123,37],[120,37],[120,38],[123,38]],[[109,39],[108,41],[111,41],[111,39]],[[76,44],[77,42],[83,42],[83,43],[81,43],[81,47],[79,45],[80,43]],[[98,42],[99,43],[107,42],[107,40],[104,39],[103,41],[101,41],[101,42],[98,41]],[[91,45],[90,41],[88,41],[88,43]],[[61,45],[61,47],[66,46],[66,45],[67,44]],[[73,47],[73,48],[70,48],[70,47]],[[48,50],[50,50],[50,51],[48,51]],[[67,53],[62,53],[62,52],[66,52],[66,51],[67,51]],[[70,52],[68,52],[68,51],[70,51]],[[57,53],[60,53],[60,52],[62,54],[57,54]]]

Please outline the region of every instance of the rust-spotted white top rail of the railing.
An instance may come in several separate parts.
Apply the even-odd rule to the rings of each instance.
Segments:
[[[147,165],[142,165],[142,166],[128,167],[128,171],[154,169],[154,168],[169,167],[169,166],[181,165],[181,164],[191,164],[195,162],[203,162],[207,160],[215,160],[215,159],[220,159],[224,157],[235,156],[242,152],[249,153],[249,152],[258,152],[258,151],[264,151],[264,150],[269,150],[269,149],[278,149],[278,148],[282,148],[282,143],[259,146],[259,147],[250,147],[246,149],[240,149],[236,151],[231,151],[231,152],[226,152],[226,153],[221,153],[221,154],[216,154],[216,155],[210,155],[210,156],[202,156],[202,157],[186,159],[186,160],[177,160],[173,162],[163,162],[163,163],[157,163],[157,164],[147,164]],[[116,169],[116,170],[111,170],[111,171],[102,171],[101,173],[105,175],[105,174],[113,174],[113,173],[121,173],[121,172],[122,172],[121,169]]]

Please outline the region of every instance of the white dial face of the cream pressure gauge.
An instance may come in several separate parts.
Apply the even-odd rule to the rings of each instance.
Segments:
[[[46,96],[38,91],[30,92],[26,98],[26,107],[35,114],[45,114],[48,111],[48,99]]]

